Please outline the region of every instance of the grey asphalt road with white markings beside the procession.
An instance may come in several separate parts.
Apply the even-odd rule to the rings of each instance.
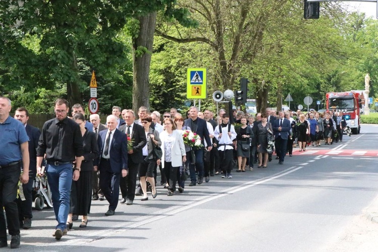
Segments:
[[[378,195],[377,141],[378,125],[362,125],[360,135],[296,150],[283,165],[214,176],[172,197],[158,186],[156,199],[136,197],[110,217],[106,201],[93,201],[88,227],[76,221],[60,241],[52,209],[33,211],[19,250],[329,251]]]

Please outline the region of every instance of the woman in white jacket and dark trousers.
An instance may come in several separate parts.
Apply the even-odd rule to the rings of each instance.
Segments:
[[[165,130],[160,134],[162,167],[168,182],[168,196],[176,191],[177,169],[186,161],[186,152],[182,134],[176,130],[172,118],[164,119]]]

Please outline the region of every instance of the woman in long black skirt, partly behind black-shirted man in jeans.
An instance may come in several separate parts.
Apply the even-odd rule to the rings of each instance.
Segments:
[[[82,215],[83,219],[79,227],[86,227],[88,223],[88,213],[91,209],[92,199],[92,173],[93,166],[97,165],[93,160],[97,160],[98,145],[96,134],[89,132],[85,128],[85,117],[82,113],[76,113],[74,121],[80,125],[83,135],[84,160],[81,163],[80,177],[77,181],[72,181],[70,213],[67,218],[67,228],[72,228],[72,215]]]

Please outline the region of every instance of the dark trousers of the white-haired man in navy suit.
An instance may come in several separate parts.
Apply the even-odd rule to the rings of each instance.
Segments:
[[[109,161],[101,159],[99,186],[109,202],[109,209],[113,211],[118,205],[120,176],[120,173],[111,170]]]

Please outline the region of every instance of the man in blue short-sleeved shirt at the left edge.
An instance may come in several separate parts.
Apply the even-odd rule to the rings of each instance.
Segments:
[[[0,248],[8,246],[3,207],[7,215],[8,231],[12,235],[11,248],[20,246],[17,187],[19,179],[24,184],[29,181],[29,137],[24,125],[9,116],[11,109],[11,100],[0,97]],[[24,172],[20,177],[21,164]]]

